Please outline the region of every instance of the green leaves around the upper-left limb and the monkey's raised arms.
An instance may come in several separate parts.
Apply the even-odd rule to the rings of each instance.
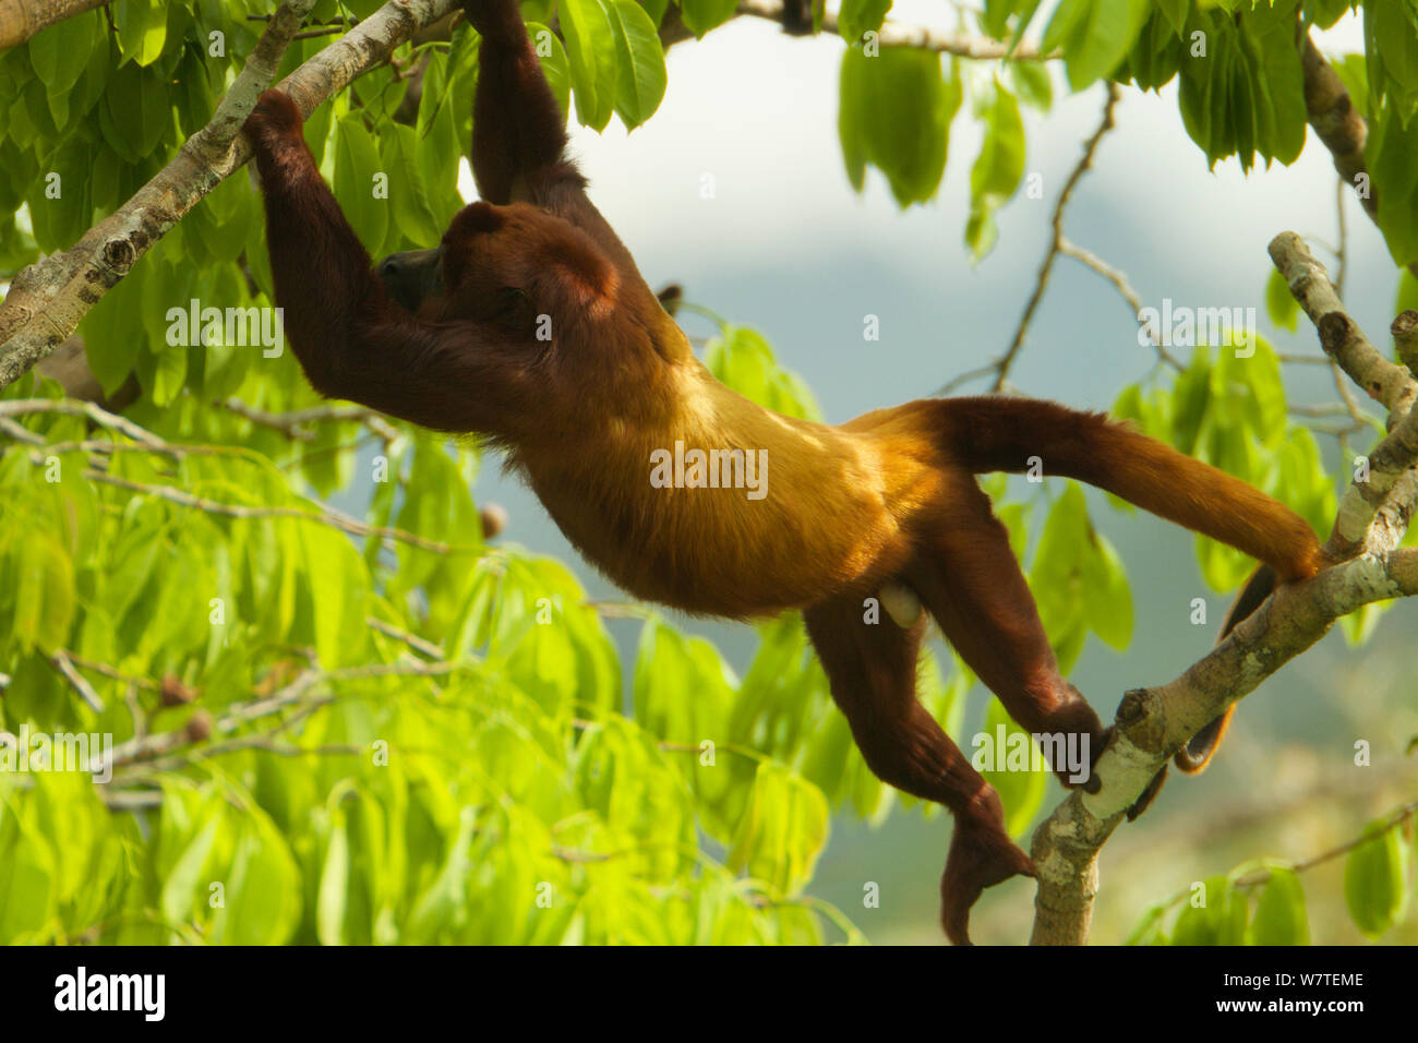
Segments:
[[[320,0],[311,17],[367,17],[376,0]],[[587,125],[613,112],[627,126],[654,114],[665,91],[664,51],[651,16],[632,0],[560,0],[567,43],[529,24],[563,109],[574,91]],[[182,140],[210,119],[265,16],[245,0],[196,6],[123,0],[67,18],[0,55],[0,268],[20,268],[71,245],[147,182]],[[221,47],[213,44],[220,38]],[[329,45],[294,41],[279,74]],[[305,138],[372,255],[435,245],[461,206],[458,158],[472,126],[476,34],[461,26],[451,45],[425,44],[423,92],[410,122],[390,116],[406,96],[393,65],[362,77],[319,106]],[[220,50],[220,53],[217,53]],[[54,176],[58,180],[54,180]],[[57,192],[55,192],[57,189]],[[210,399],[235,392],[251,352],[170,343],[169,311],[191,299],[250,308],[271,301],[259,199],[247,177],[217,186],[108,292],[79,325],[89,365],[109,392],[136,373],[146,397],[172,403],[190,387]]]

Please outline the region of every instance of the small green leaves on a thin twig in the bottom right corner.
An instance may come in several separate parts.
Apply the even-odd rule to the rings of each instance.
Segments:
[[[1414,841],[1391,819],[1370,823],[1344,856],[1344,904],[1366,938],[1378,939],[1408,912]],[[1252,883],[1259,878],[1261,883]],[[1309,945],[1305,887],[1286,861],[1259,859],[1211,877],[1181,900],[1143,914],[1129,945]]]

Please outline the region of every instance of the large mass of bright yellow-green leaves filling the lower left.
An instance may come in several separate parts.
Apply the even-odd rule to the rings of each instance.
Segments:
[[[4,397],[55,390],[27,376]],[[834,790],[858,779],[854,795],[873,806],[882,788],[859,763],[844,769],[856,755],[841,721],[817,746],[795,742],[788,725],[814,719],[794,718],[803,700],[828,717],[797,620],[760,651],[795,661],[797,680],[764,666],[742,685],[705,643],[647,622],[640,724],[618,712],[615,650],[574,578],[471,535],[471,450],[413,431],[387,446],[393,481],[370,519],[454,546],[362,553],[301,517],[313,505],[288,468],[302,448],[262,454],[250,446],[269,431],[187,393],[146,419],[211,448],[113,453],[108,475],[136,492],[85,474],[77,447],[0,457],[0,725],[125,742],[142,722],[191,738],[194,715],[237,721],[312,661],[318,702],[289,708],[298,727],[257,717],[179,742],[174,761],[121,766],[106,788],[0,772],[0,942],[803,942],[831,921],[859,937],[803,897],[828,798],[778,754],[811,755]],[[51,444],[85,434],[51,413],[24,423]],[[174,504],[164,488],[257,517]],[[438,643],[454,668],[387,673],[408,649],[369,616]],[[200,695],[167,707],[91,673],[95,711],[52,668],[60,649]],[[719,688],[688,698],[696,668]],[[784,685],[797,701],[771,698]],[[702,717],[682,727],[683,712]],[[718,763],[699,762],[705,741]],[[111,810],[116,793],[150,806]]]

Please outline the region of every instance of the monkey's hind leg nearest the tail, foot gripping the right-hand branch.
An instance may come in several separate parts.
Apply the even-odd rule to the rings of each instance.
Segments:
[[[1008,532],[973,478],[963,478],[942,498],[917,546],[903,573],[906,582],[1010,717],[1035,735],[1073,735],[1079,744],[1088,739],[1081,763],[1072,769],[1051,765],[1064,785],[1079,785],[1075,772],[1090,769],[1107,732],[1088,701],[1059,674]],[[1078,749],[1083,754],[1082,746]]]

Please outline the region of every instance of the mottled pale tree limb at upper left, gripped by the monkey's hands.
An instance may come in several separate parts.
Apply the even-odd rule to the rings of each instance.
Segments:
[[[322,101],[381,64],[423,26],[448,14],[457,0],[391,0],[286,78],[309,114]],[[286,0],[247,60],[211,122],[123,206],[64,253],[18,272],[0,304],[0,387],[13,383],[78,326],[99,298],[224,177],[251,158],[241,125],[257,95],[275,77],[286,43],[313,0]]]

